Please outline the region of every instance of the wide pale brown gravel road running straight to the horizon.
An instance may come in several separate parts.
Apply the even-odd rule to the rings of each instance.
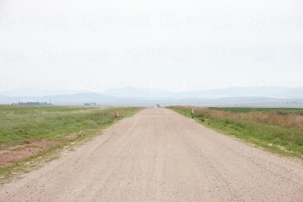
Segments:
[[[303,166],[145,109],[5,184],[0,201],[303,201]]]

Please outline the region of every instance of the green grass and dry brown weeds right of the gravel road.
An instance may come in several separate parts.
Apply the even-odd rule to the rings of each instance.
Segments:
[[[266,150],[303,159],[301,109],[167,107],[199,124]],[[194,109],[194,114],[192,114]]]

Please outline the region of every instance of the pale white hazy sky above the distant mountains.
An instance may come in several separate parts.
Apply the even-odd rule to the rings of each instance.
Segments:
[[[1,0],[0,10],[1,91],[303,83],[301,0]]]

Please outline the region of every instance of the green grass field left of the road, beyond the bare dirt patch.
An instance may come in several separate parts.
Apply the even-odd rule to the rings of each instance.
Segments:
[[[64,135],[97,129],[133,115],[140,108],[0,106],[0,149],[42,139],[68,141]]]

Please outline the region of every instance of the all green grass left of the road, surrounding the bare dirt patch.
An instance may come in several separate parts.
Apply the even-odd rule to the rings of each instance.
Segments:
[[[28,147],[33,147],[35,151],[38,149],[25,159],[11,160],[12,165],[0,167],[0,178],[6,179],[12,173],[26,171],[27,167],[34,167],[35,162],[45,159],[44,157],[49,161],[58,149],[89,140],[101,129],[122,118],[130,117],[142,109],[0,106],[0,150],[22,152]],[[39,141],[52,141],[56,144],[36,148],[33,144]],[[14,148],[10,149],[12,147]]]

